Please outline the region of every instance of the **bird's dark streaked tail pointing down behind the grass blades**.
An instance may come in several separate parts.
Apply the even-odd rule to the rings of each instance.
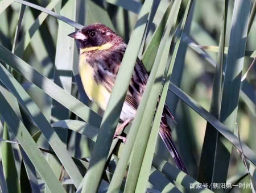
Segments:
[[[177,149],[175,147],[174,141],[172,141],[171,129],[163,127],[163,125],[161,125],[160,129],[159,129],[159,135],[162,138],[164,144],[166,144],[166,147],[167,147],[168,151],[170,152],[172,158],[174,158],[177,167],[181,171],[184,171],[185,173],[188,174],[188,170],[185,167],[185,164],[184,164],[182,158],[180,157],[179,152],[177,152]]]

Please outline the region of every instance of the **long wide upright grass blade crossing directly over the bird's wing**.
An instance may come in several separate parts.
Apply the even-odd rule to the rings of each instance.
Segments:
[[[148,15],[150,13],[152,0],[144,2],[139,14],[137,24],[131,35],[129,44],[126,48],[121,67],[117,74],[112,95],[110,96],[108,107],[102,119],[100,132],[93,149],[92,159],[90,161],[88,172],[85,174],[85,181],[82,185],[82,192],[96,192],[102,171],[105,166],[106,158],[112,144],[115,128],[117,127],[119,116],[122,110],[122,104],[125,101],[126,92],[130,83],[131,75],[137,54],[146,28]],[[104,145],[103,145],[104,144]]]

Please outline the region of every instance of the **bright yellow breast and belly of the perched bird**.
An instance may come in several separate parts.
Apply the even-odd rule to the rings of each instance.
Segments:
[[[106,106],[109,102],[110,93],[102,85],[99,85],[94,79],[94,70],[91,65],[86,62],[86,56],[80,55],[80,76],[82,79],[82,85],[86,95],[90,100],[96,102],[102,110],[106,110]]]

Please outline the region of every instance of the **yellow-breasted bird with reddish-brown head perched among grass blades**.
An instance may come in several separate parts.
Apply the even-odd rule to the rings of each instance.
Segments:
[[[79,74],[85,93],[90,100],[105,111],[127,44],[117,33],[101,23],[89,24],[68,36],[73,37],[79,47]],[[114,137],[125,140],[118,133],[122,132],[123,128],[133,121],[143,91],[146,89],[148,76],[149,74],[142,61],[137,58],[119,117],[122,124],[115,131]],[[167,124],[167,116],[174,119],[165,104],[159,135],[172,158],[174,158],[177,167],[188,174],[187,168],[172,140],[171,128]]]

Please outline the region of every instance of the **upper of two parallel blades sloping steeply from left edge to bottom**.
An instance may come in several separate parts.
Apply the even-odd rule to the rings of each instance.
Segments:
[[[5,68],[3,68],[2,65],[0,65],[0,74],[0,79],[3,84],[11,91],[11,93],[14,94],[24,110],[26,110],[31,119],[35,121],[36,125],[42,131],[52,149],[56,152],[60,162],[63,163],[63,166],[67,170],[75,186],[78,187],[82,180],[82,176],[75,166],[75,163],[73,163],[71,160],[67,149],[63,145],[63,142],[61,142],[60,138],[57,136],[56,132],[39,110],[38,106],[36,106],[22,86],[19,85],[14,77]]]

